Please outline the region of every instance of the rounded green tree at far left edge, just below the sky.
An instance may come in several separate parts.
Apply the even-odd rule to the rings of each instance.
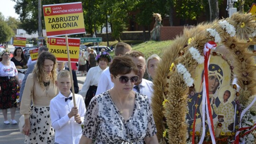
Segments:
[[[0,21],[0,43],[7,42],[14,36],[13,30],[5,21]]]

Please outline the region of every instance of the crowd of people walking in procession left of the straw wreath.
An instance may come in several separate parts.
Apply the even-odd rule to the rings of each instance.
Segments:
[[[8,50],[0,53],[0,109],[4,124],[9,124],[8,108],[11,123],[17,124],[20,88],[25,144],[158,144],[150,104],[159,56],[146,60],[123,42],[115,46],[113,59],[107,52],[96,55],[87,48],[79,57],[78,71],[87,75],[79,92],[75,69],[71,81],[69,69],[47,47],[39,47],[37,61],[29,65],[19,51],[11,61]],[[26,65],[20,84],[17,69]],[[149,80],[143,78],[146,71]]]

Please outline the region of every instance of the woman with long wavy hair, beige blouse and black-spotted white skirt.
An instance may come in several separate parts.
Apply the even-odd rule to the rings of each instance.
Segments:
[[[57,93],[56,57],[43,52],[37,59],[33,73],[27,76],[20,114],[25,117],[23,132],[25,144],[54,144],[54,129],[51,126],[49,105]],[[30,103],[32,100],[32,106]]]

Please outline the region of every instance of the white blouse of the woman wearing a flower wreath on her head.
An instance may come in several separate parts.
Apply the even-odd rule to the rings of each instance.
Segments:
[[[80,91],[82,97],[86,96],[86,93],[90,86],[98,86],[102,72],[103,70],[99,65],[89,69],[86,79],[84,80],[84,83],[82,85],[82,90]]]

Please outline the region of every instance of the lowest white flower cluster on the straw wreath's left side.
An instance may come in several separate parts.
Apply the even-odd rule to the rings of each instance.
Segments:
[[[188,72],[188,70],[185,68],[185,66],[181,63],[177,65],[177,70],[179,73],[183,75],[183,79],[187,86],[191,87],[193,86],[194,80],[191,78],[191,74]]]

